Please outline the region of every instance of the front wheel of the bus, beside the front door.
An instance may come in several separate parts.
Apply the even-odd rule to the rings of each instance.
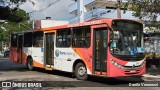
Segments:
[[[78,80],[86,80],[88,78],[87,69],[83,63],[76,65],[74,74]]]

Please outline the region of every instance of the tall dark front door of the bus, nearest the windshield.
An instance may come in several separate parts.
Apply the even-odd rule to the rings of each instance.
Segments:
[[[93,29],[93,73],[106,75],[107,71],[107,28]]]

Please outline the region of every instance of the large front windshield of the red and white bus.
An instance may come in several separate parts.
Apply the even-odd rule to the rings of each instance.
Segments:
[[[112,28],[114,30],[111,32],[110,38],[112,54],[136,55],[140,53],[142,24],[129,20],[119,20],[113,21]]]

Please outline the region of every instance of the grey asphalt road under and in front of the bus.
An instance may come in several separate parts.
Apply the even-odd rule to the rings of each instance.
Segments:
[[[128,78],[103,78],[89,76],[87,81],[80,81],[72,77],[71,73],[60,71],[46,71],[36,68],[34,71],[28,71],[26,66],[15,64],[9,61],[8,58],[0,58],[0,82],[21,82],[32,81],[41,83],[43,88],[0,88],[3,90],[160,90],[159,87],[131,87],[129,85],[139,85],[148,83],[146,79],[140,77]],[[41,82],[44,81],[44,82]],[[153,80],[155,81],[155,80]],[[153,82],[156,83],[156,82]],[[46,86],[46,87],[45,87]]]

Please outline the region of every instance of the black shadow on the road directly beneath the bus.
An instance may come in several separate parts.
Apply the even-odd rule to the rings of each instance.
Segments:
[[[67,78],[73,78],[72,73],[68,72],[62,72],[62,71],[46,71],[44,69],[36,68],[35,71],[41,72],[41,73],[47,73],[51,75],[58,75],[58,76],[63,76]],[[119,77],[119,78],[106,78],[106,77],[98,77],[98,76],[89,76],[87,81],[91,83],[97,83],[97,84],[104,84],[104,85],[116,85],[116,86],[123,86],[123,85],[128,85],[128,83],[138,83],[138,82],[144,82],[143,79],[141,79],[140,76],[135,76],[135,77]],[[86,83],[87,84],[87,83]],[[90,85],[89,85],[90,86]],[[97,86],[97,85],[96,85]]]

